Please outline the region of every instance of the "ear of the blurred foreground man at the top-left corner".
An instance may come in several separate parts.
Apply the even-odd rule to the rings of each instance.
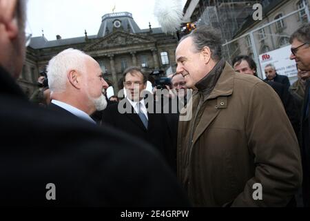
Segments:
[[[0,23],[5,27],[10,39],[15,39],[19,35],[16,7],[17,0],[0,0]]]

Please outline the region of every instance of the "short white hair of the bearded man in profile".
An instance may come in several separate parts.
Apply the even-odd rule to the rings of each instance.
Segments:
[[[48,86],[52,93],[65,91],[67,73],[70,70],[85,72],[85,61],[89,57],[81,50],[69,48],[53,57],[48,63]]]

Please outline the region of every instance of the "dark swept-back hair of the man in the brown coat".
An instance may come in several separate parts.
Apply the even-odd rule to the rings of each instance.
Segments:
[[[205,47],[209,47],[211,50],[211,59],[214,61],[220,61],[222,58],[222,40],[220,31],[212,28],[211,26],[198,26],[196,30],[186,35],[180,42],[187,37],[192,37],[195,52],[200,52]]]

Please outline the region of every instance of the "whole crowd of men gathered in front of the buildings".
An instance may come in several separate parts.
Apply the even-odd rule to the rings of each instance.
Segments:
[[[296,206],[302,189],[310,206],[309,23],[291,35],[292,85],[273,64],[260,79],[247,55],[229,64],[218,30],[199,26],[164,89],[130,67],[126,96],[107,99],[98,62],[68,48],[32,102],[14,81],[24,26],[25,1],[0,0],[1,205]]]

